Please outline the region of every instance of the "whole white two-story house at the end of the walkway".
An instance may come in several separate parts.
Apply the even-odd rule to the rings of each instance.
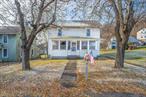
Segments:
[[[51,58],[99,56],[100,25],[95,21],[65,21],[49,29],[48,54]]]

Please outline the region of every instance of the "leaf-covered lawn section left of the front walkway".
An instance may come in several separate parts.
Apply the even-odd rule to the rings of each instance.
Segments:
[[[24,97],[27,96],[25,94],[32,93],[36,97],[44,93],[43,91],[47,90],[51,83],[61,78],[67,61],[32,60],[30,62],[32,69],[28,71],[22,71],[19,63],[1,66],[0,97]]]

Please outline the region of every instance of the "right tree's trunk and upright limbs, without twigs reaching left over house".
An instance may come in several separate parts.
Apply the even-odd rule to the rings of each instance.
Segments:
[[[108,0],[115,14],[117,53],[115,67],[124,67],[125,49],[129,35],[137,22],[145,16],[144,0]],[[144,4],[144,6],[143,6]],[[138,8],[137,8],[138,7]]]

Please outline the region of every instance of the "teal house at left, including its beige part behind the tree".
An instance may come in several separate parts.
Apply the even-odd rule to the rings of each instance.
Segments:
[[[19,26],[0,26],[0,62],[21,61],[21,42]],[[37,42],[31,46],[30,58],[39,56]]]

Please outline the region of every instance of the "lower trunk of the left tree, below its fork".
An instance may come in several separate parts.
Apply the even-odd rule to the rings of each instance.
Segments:
[[[29,56],[30,49],[22,48],[22,69],[23,70],[30,70],[30,63],[29,63]]]

